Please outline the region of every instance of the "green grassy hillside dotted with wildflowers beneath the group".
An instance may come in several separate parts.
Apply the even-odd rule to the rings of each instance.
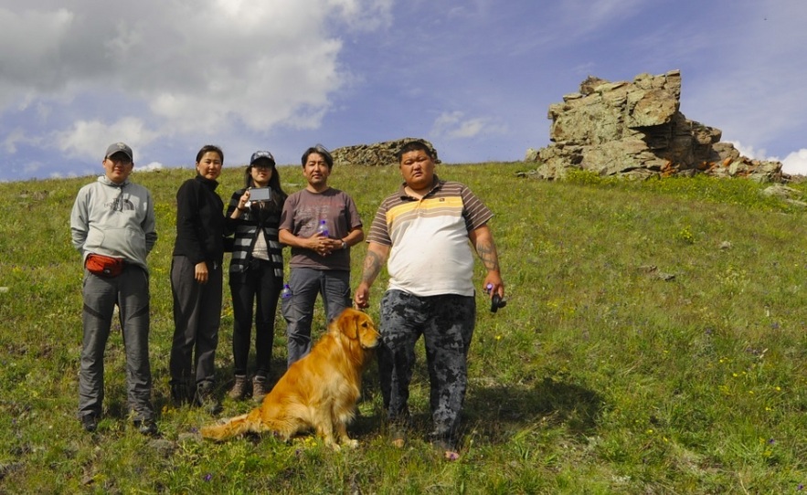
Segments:
[[[107,348],[105,416],[96,435],[84,433],[75,417],[82,272],[69,211],[92,178],[0,184],[0,492],[799,491],[807,484],[805,212],[745,180],[580,174],[547,183],[517,177],[526,166],[438,168],[494,210],[509,298],[495,315],[479,300],[454,463],[423,436],[422,344],[410,402],[419,429],[407,448],[388,445],[375,365],[351,427],[356,450],[334,452],[314,437],[198,437],[216,418],[167,399],[175,190],[189,169],[133,175],[156,200],[151,356],[163,437],[141,437],[124,416],[119,331]],[[298,167],[281,174],[287,192],[303,186]],[[240,182],[240,168],[225,169],[225,201]],[[354,196],[366,225],[398,182],[395,168],[336,168],[331,178]],[[354,249],[354,281],[364,253]],[[385,283],[382,275],[373,288],[375,318]],[[222,395],[232,373],[228,300],[226,287]],[[323,326],[318,304],[315,327]],[[279,318],[273,378],[285,367],[284,328]],[[221,416],[252,405],[224,406]]]

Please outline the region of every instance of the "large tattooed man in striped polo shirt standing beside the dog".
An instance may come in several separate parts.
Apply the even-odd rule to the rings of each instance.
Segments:
[[[415,342],[422,334],[431,384],[430,437],[454,459],[476,320],[472,245],[487,269],[482,286],[504,297],[487,226],[493,213],[465,185],[434,174],[434,153],[426,142],[404,144],[397,157],[404,184],[378,207],[354,301],[359,308],[369,305],[370,286],[388,259],[378,370],[394,442],[403,441],[400,428],[408,424]]]

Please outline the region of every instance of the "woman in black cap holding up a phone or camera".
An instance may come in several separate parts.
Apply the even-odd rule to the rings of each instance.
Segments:
[[[254,302],[255,375],[252,378],[252,399],[260,401],[268,392],[267,376],[275,313],[283,286],[283,255],[278,240],[278,225],[286,194],[281,188],[281,177],[269,152],[252,153],[244,180],[245,188],[233,193],[226,215],[229,229],[235,231],[229,265],[234,317],[232,352],[235,384],[229,396],[240,399],[247,394],[247,361]],[[260,188],[260,191],[254,188]],[[269,198],[263,199],[267,195]]]

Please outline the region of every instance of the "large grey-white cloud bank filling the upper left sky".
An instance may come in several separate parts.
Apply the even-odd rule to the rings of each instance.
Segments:
[[[0,116],[37,109],[48,125],[29,133],[48,128],[59,150],[92,158],[110,138],[317,128],[352,78],[338,62],[345,26],[386,26],[392,0],[56,4],[0,0]]]

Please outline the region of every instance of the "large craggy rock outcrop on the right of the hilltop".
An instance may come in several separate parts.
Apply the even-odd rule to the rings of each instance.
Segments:
[[[678,111],[681,73],[640,74],[633,82],[610,82],[590,77],[579,92],[549,106],[549,140],[540,150],[528,150],[531,173],[545,179],[562,178],[571,169],[600,175],[639,178],[706,173],[749,176],[781,182],[779,162],[759,162],[740,156],[722,132]]]

